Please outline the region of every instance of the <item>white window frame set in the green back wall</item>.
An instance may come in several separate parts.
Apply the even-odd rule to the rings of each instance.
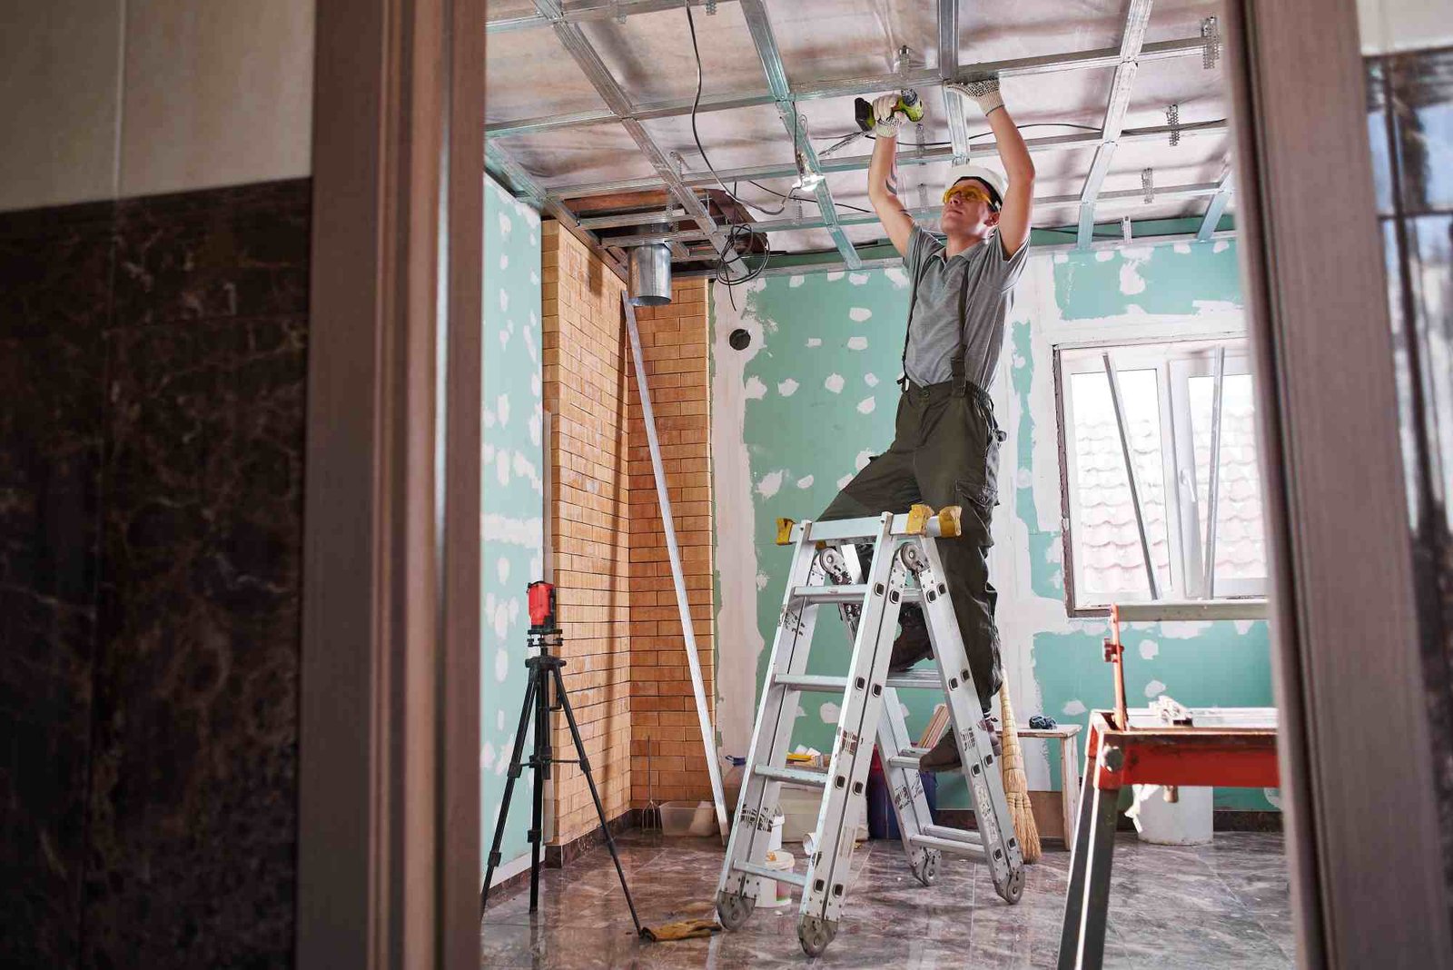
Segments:
[[[1226,347],[1225,376],[1250,373],[1245,341],[1241,338],[1171,338],[1120,341],[1113,344],[1058,344],[1055,353],[1055,394],[1059,399],[1061,508],[1064,515],[1065,606],[1071,616],[1098,616],[1110,601],[1144,603],[1148,591],[1117,592],[1112,600],[1091,600],[1082,562],[1075,556],[1074,537],[1081,533],[1080,502],[1075,495],[1078,456],[1075,453],[1074,392],[1069,378],[1078,373],[1104,373],[1103,354],[1110,354],[1116,373],[1154,370],[1157,405],[1161,418],[1161,459],[1165,476],[1165,526],[1170,545],[1170,584],[1161,584],[1162,600],[1206,598],[1203,540],[1194,488],[1194,440],[1190,424],[1190,378],[1213,373],[1215,354]],[[1260,456],[1258,456],[1260,460]],[[1181,469],[1190,488],[1181,486]],[[1142,497],[1144,498],[1144,497]],[[1215,601],[1264,597],[1267,579],[1216,581]]]

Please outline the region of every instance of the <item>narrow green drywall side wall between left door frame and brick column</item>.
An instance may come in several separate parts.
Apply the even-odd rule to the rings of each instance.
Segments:
[[[542,572],[545,450],[541,221],[491,179],[485,180],[484,221],[479,823],[488,854],[525,697],[525,587]],[[503,863],[527,851],[529,813],[530,788],[519,786],[500,849]]]

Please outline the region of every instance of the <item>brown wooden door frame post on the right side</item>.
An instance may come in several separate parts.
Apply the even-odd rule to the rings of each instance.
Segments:
[[[1354,0],[1228,0],[1298,961],[1453,966]]]

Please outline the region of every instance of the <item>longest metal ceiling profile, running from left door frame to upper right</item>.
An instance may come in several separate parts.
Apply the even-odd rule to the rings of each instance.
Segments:
[[[1177,58],[1189,55],[1202,55],[1206,49],[1206,41],[1196,35],[1194,38],[1183,38],[1178,41],[1157,41],[1155,44],[1145,44],[1141,46],[1139,61],[1155,61],[1162,58]],[[1077,51],[1074,54],[1045,54],[1037,57],[1021,57],[1007,61],[982,61],[979,64],[963,64],[959,65],[958,73],[952,80],[955,81],[972,81],[981,77],[997,76],[1004,77],[1027,77],[1033,74],[1055,74],[1062,71],[1085,71],[1094,68],[1110,68],[1122,62],[1120,46],[1100,48],[1096,51]],[[907,71],[904,74],[875,74],[872,77],[850,77],[840,78],[834,81],[819,81],[817,84],[808,84],[799,87],[793,91],[793,97],[799,102],[817,100],[822,97],[854,97],[857,94],[872,94],[875,91],[895,90],[899,87],[933,87],[939,84],[943,78],[939,77],[939,68],[933,70],[915,70]],[[709,112],[734,110],[740,107],[756,107],[760,105],[772,105],[774,99],[772,94],[721,94],[715,97],[702,97],[700,107],[697,107],[697,115],[705,115]],[[636,105],[634,118],[639,121],[652,121],[657,118],[680,118],[683,115],[692,113],[692,99],[673,99],[664,102],[648,102],[644,105]],[[514,121],[495,122],[493,125],[484,126],[484,134],[490,138],[513,138],[517,135],[533,135],[546,131],[559,131],[562,128],[580,128],[583,125],[599,125],[603,122],[615,121],[616,115],[603,110],[591,109],[581,112],[570,112],[565,115],[545,115],[541,118],[520,118]]]

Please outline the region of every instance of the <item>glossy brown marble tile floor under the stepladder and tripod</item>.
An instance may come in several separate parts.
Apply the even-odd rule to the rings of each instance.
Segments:
[[[788,847],[801,855],[801,847]],[[626,834],[622,865],[641,921],[709,918],[721,871],[715,839]],[[801,863],[801,860],[799,860]],[[593,970],[639,967],[1052,967],[1059,948],[1069,854],[1029,867],[1023,897],[1008,905],[982,865],[944,858],[926,887],[897,842],[865,842],[853,855],[850,902],[838,935],[817,960],[798,945],[796,905],[758,908],[735,932],[645,944],[610,855],[596,849],[546,870],[541,909],[527,886],[491,900],[481,925],[484,967]],[[1282,838],[1226,832],[1209,847],[1116,842],[1107,967],[1290,967],[1292,915]]]

